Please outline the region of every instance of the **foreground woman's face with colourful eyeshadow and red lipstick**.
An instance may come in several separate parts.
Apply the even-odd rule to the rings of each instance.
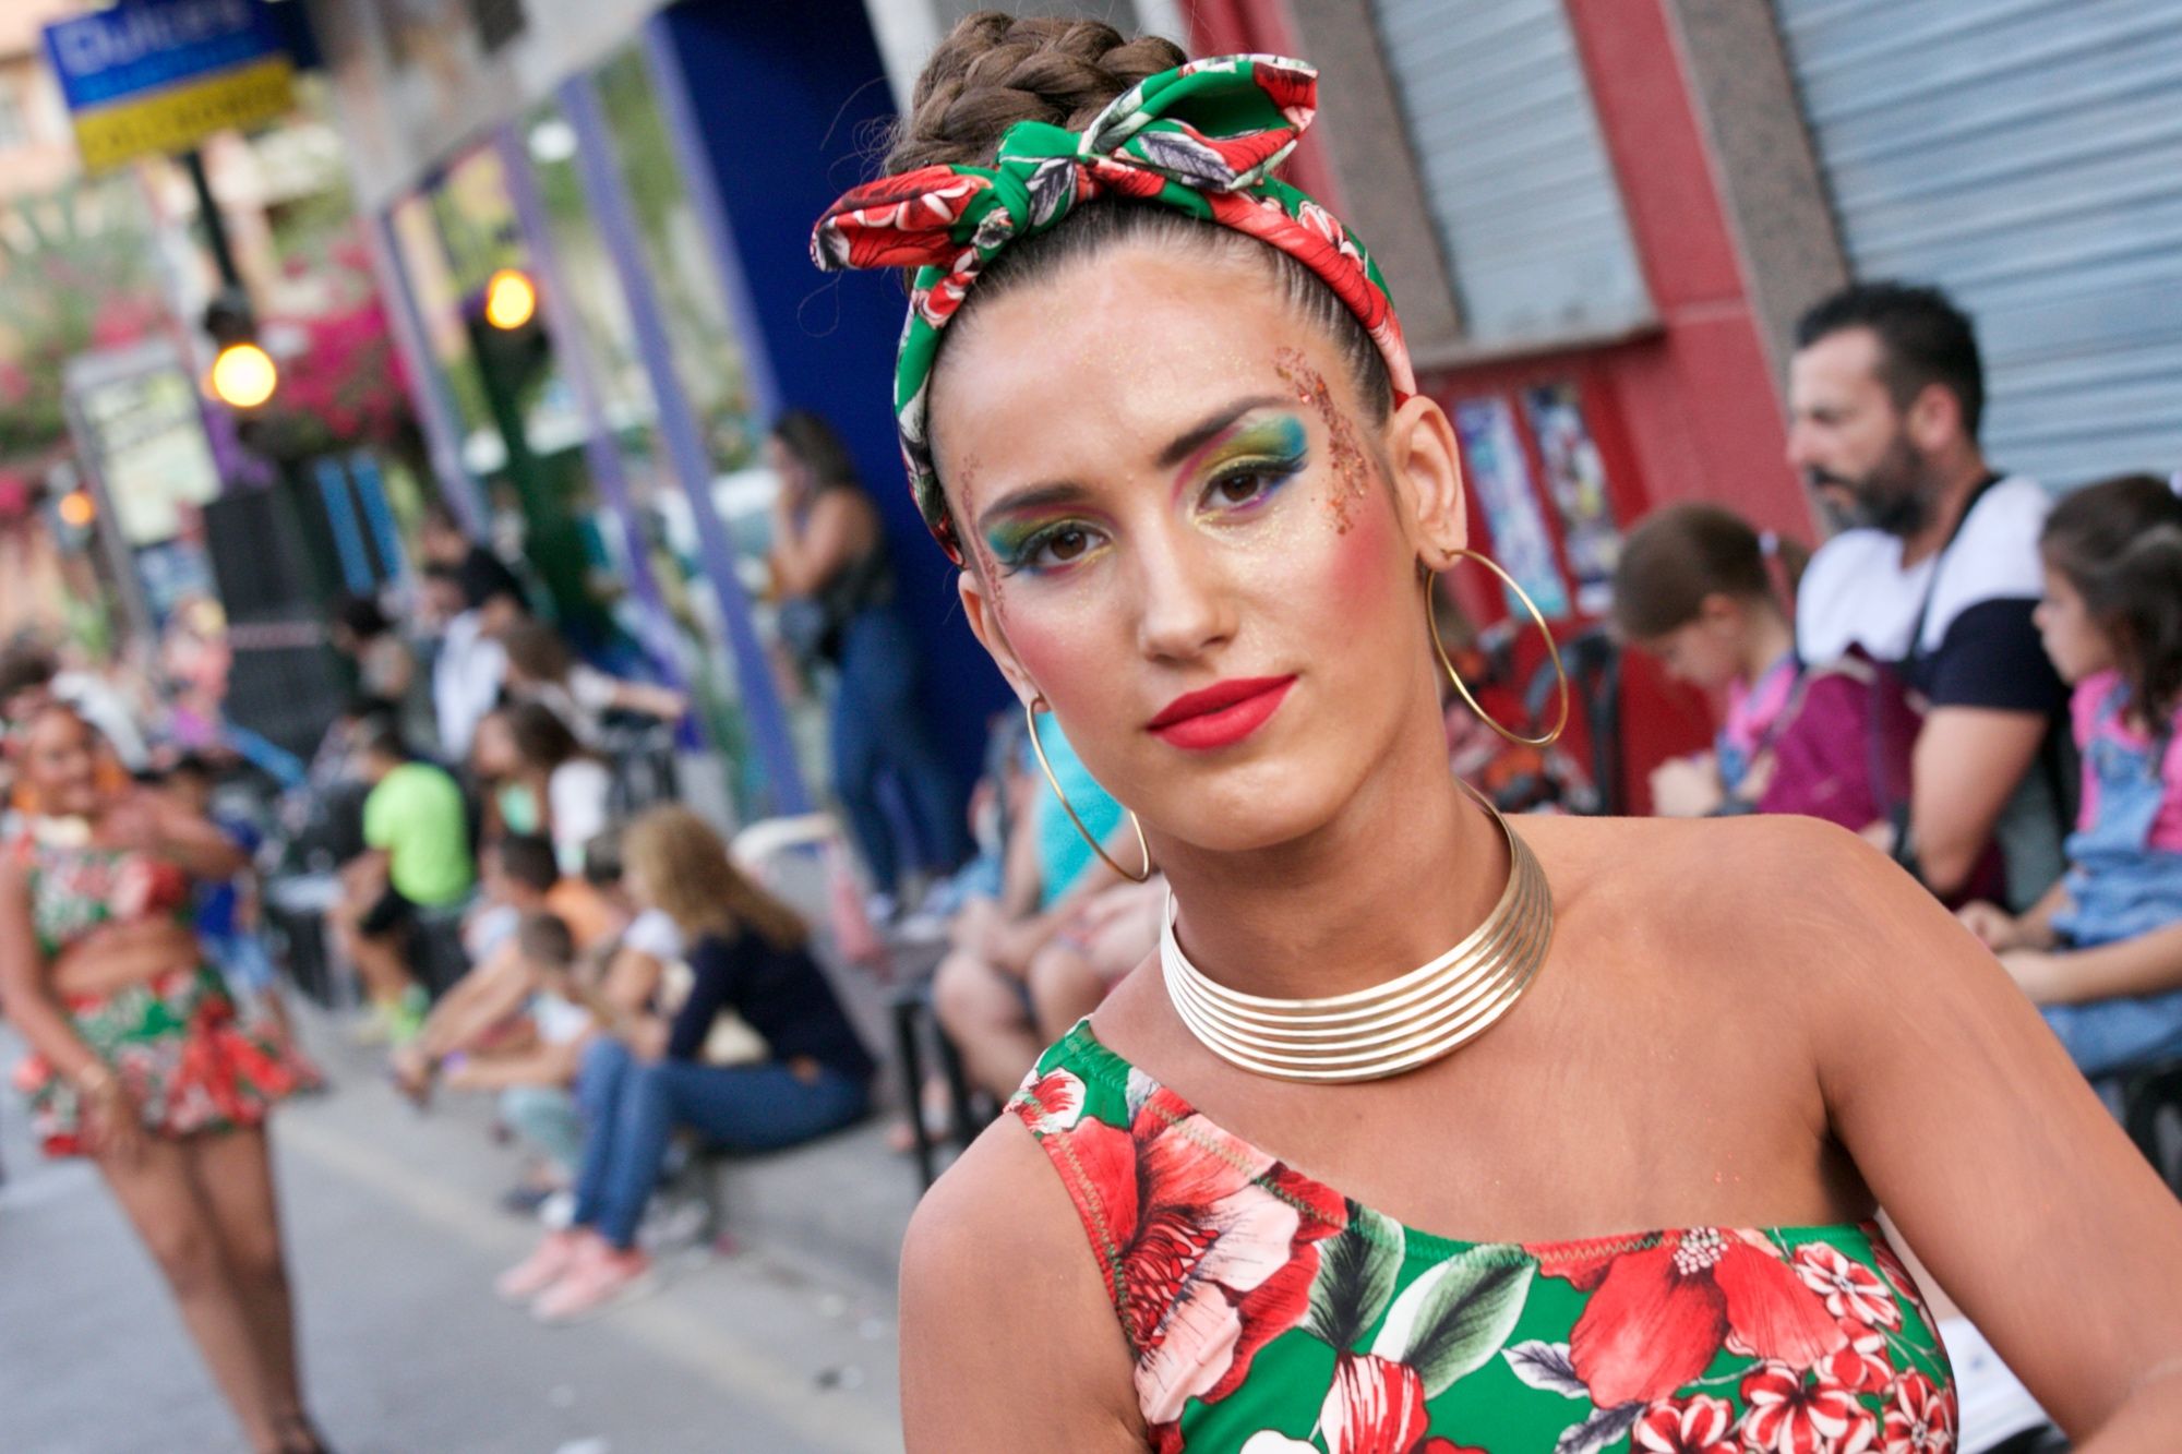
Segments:
[[[971,627],[1150,827],[1290,843],[1438,731],[1447,419],[1375,426],[1261,262],[1106,249],[984,303],[932,389]]]

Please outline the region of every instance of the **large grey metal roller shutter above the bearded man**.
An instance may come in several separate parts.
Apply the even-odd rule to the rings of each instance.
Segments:
[[[1990,456],[2182,467],[2182,7],[1776,7],[1857,275],[1977,319]]]

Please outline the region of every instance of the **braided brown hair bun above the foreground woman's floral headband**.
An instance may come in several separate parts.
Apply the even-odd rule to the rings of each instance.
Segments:
[[[988,166],[1015,122],[1080,131],[1108,100],[1185,59],[1174,41],[1124,39],[1098,20],[964,15],[916,76],[886,170]]]

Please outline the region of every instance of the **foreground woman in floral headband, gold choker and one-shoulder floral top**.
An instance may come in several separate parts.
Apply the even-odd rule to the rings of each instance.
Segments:
[[[1316,85],[971,15],[814,236],[914,269],[964,620],[1172,886],[919,1207],[910,1450],[1951,1454],[1881,1203],[2077,1447],[2171,1450],[2182,1207],[1946,910],[1820,823],[1449,775],[1420,587],[1497,568],[1379,269],[1274,177]]]

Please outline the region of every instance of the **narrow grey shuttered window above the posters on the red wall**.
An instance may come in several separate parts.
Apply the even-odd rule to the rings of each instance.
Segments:
[[[1652,321],[1562,0],[1375,0],[1468,343]]]

